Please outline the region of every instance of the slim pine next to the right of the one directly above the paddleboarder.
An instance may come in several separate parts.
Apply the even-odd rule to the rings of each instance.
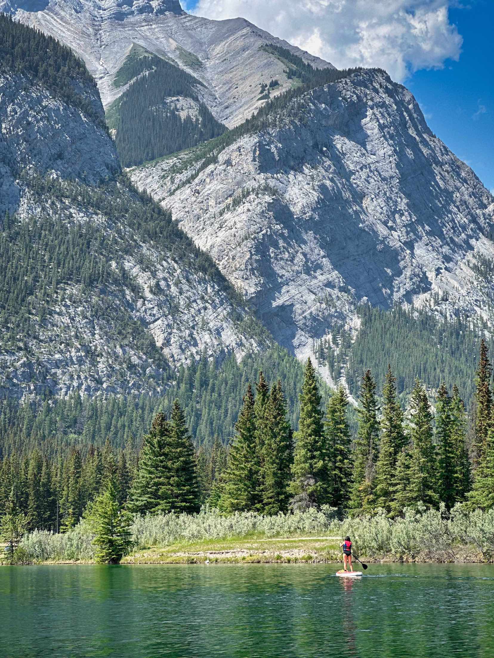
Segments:
[[[350,509],[368,511],[372,507],[375,462],[379,447],[379,409],[375,398],[375,381],[371,371],[362,377],[360,407],[357,409],[358,433],[354,458],[354,482],[350,494]]]

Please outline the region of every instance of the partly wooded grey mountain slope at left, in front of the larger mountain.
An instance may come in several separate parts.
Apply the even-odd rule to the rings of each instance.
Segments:
[[[0,15],[0,397],[164,390],[269,342],[211,259],[125,176],[72,51]]]

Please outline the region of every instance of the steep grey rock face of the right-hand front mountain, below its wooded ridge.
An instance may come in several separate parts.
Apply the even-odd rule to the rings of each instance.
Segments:
[[[190,155],[187,156],[190,159]],[[131,171],[297,355],[369,301],[487,316],[494,199],[383,72],[307,93],[181,186],[185,156]],[[183,169],[182,164],[182,169]],[[179,173],[177,173],[179,172]]]

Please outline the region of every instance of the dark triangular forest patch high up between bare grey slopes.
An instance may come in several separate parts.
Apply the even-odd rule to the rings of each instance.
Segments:
[[[132,47],[113,84],[129,82],[107,109],[124,166],[188,149],[227,130],[200,101],[200,80],[142,47]]]

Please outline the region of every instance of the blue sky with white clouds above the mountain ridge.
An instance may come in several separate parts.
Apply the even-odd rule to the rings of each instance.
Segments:
[[[494,0],[333,6],[331,0],[182,0],[182,6],[209,18],[244,16],[336,66],[383,66],[414,93],[431,130],[494,192]]]

